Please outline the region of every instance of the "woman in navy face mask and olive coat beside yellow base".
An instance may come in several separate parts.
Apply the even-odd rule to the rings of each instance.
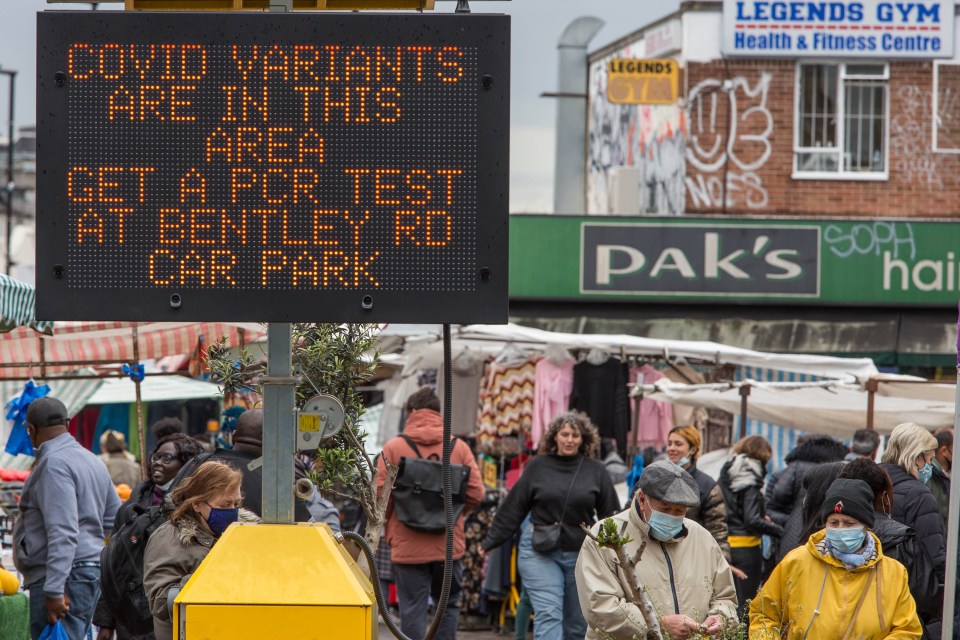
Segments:
[[[234,522],[257,521],[240,508],[242,479],[229,464],[210,460],[170,494],[174,511],[150,536],[143,556],[143,589],[157,640],[172,640],[169,603],[221,534]]]

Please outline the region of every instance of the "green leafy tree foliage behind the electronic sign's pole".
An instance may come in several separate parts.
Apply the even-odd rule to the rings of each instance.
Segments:
[[[375,324],[294,324],[292,359],[301,381],[296,388],[297,407],[318,393],[335,396],[346,413],[343,429],[317,449],[317,471],[311,478],[321,492],[356,500],[373,516],[376,503],[372,483],[375,467],[366,455],[367,434],[359,428],[363,398],[357,387],[369,381],[377,369],[378,327]],[[221,339],[208,351],[212,378],[224,392],[250,389],[260,392],[258,378],[265,371],[245,350],[231,360]],[[372,486],[373,485],[373,486]]]

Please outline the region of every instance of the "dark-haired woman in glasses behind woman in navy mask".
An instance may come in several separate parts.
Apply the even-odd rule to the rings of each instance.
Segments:
[[[194,456],[203,453],[196,440],[185,433],[174,433],[157,443],[150,455],[149,477],[134,488],[130,499],[120,505],[113,523],[113,532],[133,520],[150,507],[163,504],[163,498],[177,472]],[[97,640],[111,640],[116,631],[117,640],[151,640],[153,634],[137,636],[129,633],[117,623],[113,613],[101,595],[93,615],[93,623],[100,627]]]

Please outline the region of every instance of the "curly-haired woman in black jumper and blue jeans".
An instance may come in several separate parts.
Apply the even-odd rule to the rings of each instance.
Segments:
[[[574,579],[585,537],[580,523],[620,510],[610,475],[596,459],[599,449],[597,428],[586,415],[554,418],[481,546],[485,553],[507,542],[530,514],[533,526],[520,537],[517,566],[533,604],[536,640],[583,640],[587,632]]]

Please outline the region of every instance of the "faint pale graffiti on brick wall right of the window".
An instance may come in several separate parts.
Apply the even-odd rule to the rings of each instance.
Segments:
[[[933,153],[933,93],[917,85],[904,85],[897,90],[895,108],[890,118],[890,154],[895,171],[913,184],[928,190],[943,188],[945,157]],[[956,126],[960,96],[940,96],[937,118],[941,127]]]

